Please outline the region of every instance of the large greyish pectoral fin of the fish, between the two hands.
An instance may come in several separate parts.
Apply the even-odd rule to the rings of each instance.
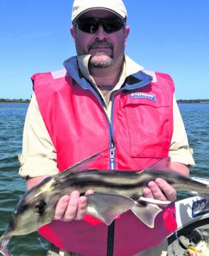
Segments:
[[[135,205],[135,201],[118,194],[94,193],[87,196],[87,213],[111,225],[113,220]]]

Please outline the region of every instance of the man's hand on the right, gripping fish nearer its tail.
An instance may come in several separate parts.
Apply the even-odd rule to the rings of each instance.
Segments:
[[[148,187],[143,189],[145,197],[161,201],[175,201],[176,190],[171,187],[164,179],[156,179],[155,182],[149,182]]]

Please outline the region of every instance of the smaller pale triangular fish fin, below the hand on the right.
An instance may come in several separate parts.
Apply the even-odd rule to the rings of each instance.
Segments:
[[[156,204],[147,204],[146,206],[135,205],[131,210],[149,228],[154,228],[154,219],[162,211],[162,208]]]

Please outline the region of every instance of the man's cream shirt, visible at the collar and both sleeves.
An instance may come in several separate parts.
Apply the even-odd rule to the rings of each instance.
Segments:
[[[82,60],[84,64],[82,65]],[[86,79],[91,80],[89,71],[85,69],[88,62],[88,55],[83,56],[83,59],[79,60],[79,67],[81,72],[85,75]],[[137,63],[130,60],[125,56],[125,65],[121,72],[118,84],[115,85],[113,91],[120,89],[125,77],[130,74],[134,74],[137,71],[142,70],[143,67],[137,65]],[[94,82],[91,80],[91,82]],[[94,87],[96,84],[94,82]],[[102,95],[101,90],[100,94]],[[112,92],[113,93],[113,92]],[[105,101],[105,99],[104,99]],[[111,103],[108,104],[108,109],[111,109]],[[110,113],[108,113],[110,117]],[[169,156],[172,162],[181,162],[184,165],[194,166],[191,150],[188,146],[188,139],[186,130],[183,125],[179,108],[174,98],[174,133],[171,139],[171,148],[169,150]],[[25,126],[23,130],[23,152],[19,155],[19,161],[21,167],[19,174],[21,177],[37,177],[42,175],[57,174],[57,154],[55,147],[52,143],[49,133],[43,122],[43,118],[40,115],[35,95],[33,94],[30,101],[30,106],[26,115]]]

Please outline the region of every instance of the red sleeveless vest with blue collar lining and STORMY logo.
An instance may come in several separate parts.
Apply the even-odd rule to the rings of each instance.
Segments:
[[[67,69],[72,73],[72,69]],[[173,133],[174,84],[169,75],[155,74],[157,82],[144,72],[126,79],[113,98],[111,124],[101,99],[86,79],[79,77],[79,72],[58,78],[52,73],[32,77],[40,113],[57,150],[60,172],[110,148],[112,138],[116,170],[145,169],[168,156]],[[110,162],[109,152],[105,152],[94,168],[110,169]],[[114,256],[135,255],[173,232],[176,221],[171,208],[173,205],[159,213],[154,228],[148,228],[131,211],[119,216],[115,220]],[[93,217],[52,221],[39,232],[61,250],[87,256],[106,255],[108,227]]]

